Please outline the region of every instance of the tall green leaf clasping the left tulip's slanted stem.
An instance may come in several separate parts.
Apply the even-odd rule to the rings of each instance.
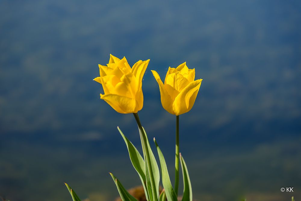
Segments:
[[[150,144],[147,139],[147,134],[143,127],[142,130],[139,128],[139,133],[141,135],[141,143],[144,147],[145,176],[149,198],[152,201],[158,201],[160,182],[159,167],[156,162],[154,153],[151,150]]]

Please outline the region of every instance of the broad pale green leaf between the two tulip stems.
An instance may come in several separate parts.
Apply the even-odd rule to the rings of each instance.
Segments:
[[[168,201],[178,201],[177,195],[175,194],[175,190],[173,189],[171,182],[170,182],[170,178],[169,178],[169,174],[168,174],[168,170],[166,167],[166,162],[165,162],[164,156],[163,156],[161,149],[159,148],[155,138],[154,138],[154,142],[156,144],[159,159],[160,159],[162,183],[163,183],[163,187],[165,190],[167,200]]]

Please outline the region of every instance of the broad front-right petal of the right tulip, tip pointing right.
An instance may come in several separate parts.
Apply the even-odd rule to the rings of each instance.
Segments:
[[[189,83],[175,98],[175,102],[172,104],[175,115],[181,115],[191,110],[200,89],[201,82],[202,79]]]

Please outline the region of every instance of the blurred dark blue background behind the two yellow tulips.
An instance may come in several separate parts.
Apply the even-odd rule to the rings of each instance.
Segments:
[[[71,200],[67,182],[83,199],[113,200],[109,171],[126,188],[140,184],[116,129],[140,148],[135,119],[92,81],[111,53],[131,65],[151,59],[139,115],[172,179],[175,116],[150,70],[165,77],[187,61],[203,79],[180,116],[195,199],[301,199],[300,10],[278,0],[2,0],[0,195]]]

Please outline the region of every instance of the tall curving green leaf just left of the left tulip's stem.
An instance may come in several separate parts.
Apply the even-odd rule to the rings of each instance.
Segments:
[[[129,156],[130,156],[131,162],[132,162],[135,170],[139,174],[139,177],[141,179],[141,183],[142,183],[143,188],[144,188],[144,193],[146,195],[146,199],[149,200],[148,199],[147,188],[145,186],[146,185],[146,176],[145,176],[145,163],[144,163],[144,160],[143,160],[142,156],[140,155],[140,153],[138,152],[138,150],[136,149],[136,147],[131,143],[131,141],[129,141],[125,137],[125,135],[119,129],[119,127],[117,127],[117,129],[119,130],[119,133],[121,134],[121,136],[123,137],[124,142],[126,143],[126,146],[128,148],[128,151],[129,151]]]

